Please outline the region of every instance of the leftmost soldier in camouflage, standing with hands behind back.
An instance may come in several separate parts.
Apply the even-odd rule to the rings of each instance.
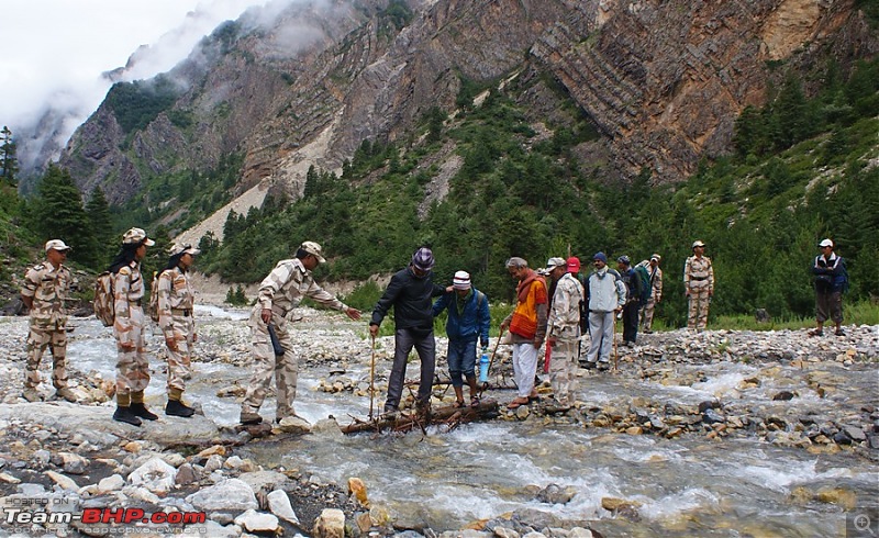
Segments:
[[[46,261],[31,268],[24,276],[21,300],[31,311],[27,335],[27,366],[24,370],[24,393],[29,402],[42,400],[40,359],[46,347],[52,350],[52,384],[56,397],[76,402],[67,386],[67,311],[65,300],[70,291],[70,271],[64,266],[70,247],[60,239],[46,243]]]

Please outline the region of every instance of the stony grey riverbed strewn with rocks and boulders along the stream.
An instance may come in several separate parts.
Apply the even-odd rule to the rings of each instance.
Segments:
[[[869,500],[875,502],[879,494],[875,471],[879,461],[876,326],[848,326],[845,337],[820,338],[809,337],[804,330],[643,335],[637,347],[619,348],[615,370],[580,371],[578,402],[567,413],[552,412],[552,390],[543,383],[541,401],[514,412],[501,406],[500,416],[492,421],[497,426],[445,425],[407,435],[360,434],[352,440],[338,426],[355,416],[366,418],[374,357],[379,391],[375,405],[380,407],[392,337],[380,338],[374,355],[365,324],[300,310],[294,333],[300,360],[297,412],[307,422],[282,424],[268,437],[255,437],[262,433],[241,430],[235,424],[237,402],[249,376],[246,313],[230,314],[219,309],[198,313],[199,356],[187,397],[201,414],[185,419],[160,413],[165,369],[160,339],[153,337],[149,352],[154,378],[147,404],[159,412],[160,418],[141,428],[110,418],[115,358],[109,329],[93,318],[71,322],[70,384],[78,403],[53,400],[48,358],[44,358],[42,368],[45,401],[29,403],[20,397],[26,318],[0,317],[0,503],[7,515],[130,507],[143,509],[148,523],[138,518],[127,525],[129,530],[153,535],[180,534],[188,528],[204,536],[404,533],[448,538],[528,533],[553,537],[652,536],[658,530],[667,536],[688,536],[692,535],[692,525],[700,528],[703,520],[721,517],[716,513],[685,512],[687,517],[681,523],[678,511],[671,520],[664,516],[660,502],[650,502],[653,493],[627,493],[623,485],[603,491],[594,484],[598,493],[589,492],[589,486],[566,484],[559,477],[552,478],[553,473],[530,484],[507,484],[505,477],[491,478],[498,482],[490,486],[493,493],[486,493],[488,486],[482,486],[482,493],[471,489],[464,496],[460,491],[442,496],[469,495],[485,501],[486,506],[449,503],[450,507],[444,508],[410,503],[403,498],[405,492],[396,491],[400,484],[381,481],[381,475],[414,464],[410,472],[425,473],[427,481],[433,477],[436,489],[453,487],[456,482],[466,486],[478,480],[479,464],[469,467],[472,474],[465,472],[460,480],[449,480],[447,475],[457,475],[460,469],[449,468],[439,452],[457,450],[448,447],[453,438],[452,442],[480,447],[465,453],[485,458],[488,467],[498,467],[504,452],[515,450],[504,448],[509,439],[490,438],[498,431],[526,431],[528,450],[537,447],[541,453],[552,452],[566,437],[574,439],[572,452],[585,445],[596,448],[615,444],[628,447],[626,450],[649,446],[644,461],[652,466],[668,464],[680,451],[701,451],[710,460],[724,449],[742,447],[783,458],[820,459],[824,462],[820,467],[827,468],[817,473],[820,480],[788,481],[780,496],[791,514],[841,515],[842,523],[831,525],[831,529],[845,528],[846,514],[865,506],[872,509]],[[438,338],[437,354],[442,379],[443,338]],[[512,386],[509,365],[509,349],[500,346],[487,397],[501,403],[513,397],[508,390]],[[415,377],[416,370],[415,361],[410,365],[409,377]],[[438,385],[434,405],[450,403],[452,397],[449,389]],[[274,418],[272,410],[270,395],[262,410],[267,421]],[[454,434],[448,433],[452,428],[457,428]],[[380,451],[392,456],[382,461]],[[420,459],[408,461],[410,453],[419,453]],[[592,453],[598,460],[603,457],[597,448]],[[460,455],[455,451],[450,456],[454,460]],[[602,464],[613,466],[619,455],[608,457]],[[360,458],[363,461],[358,461]],[[588,451],[567,456],[567,460],[571,458],[581,458],[580,467],[592,461]],[[377,470],[376,466],[387,468]],[[515,466],[501,472],[515,474]],[[828,483],[827,477],[837,473],[848,477],[850,484]],[[656,480],[663,481],[658,475]],[[693,486],[699,491],[710,487]],[[149,514],[158,513],[170,517],[156,523],[160,518],[151,518]],[[202,514],[204,522],[182,525],[187,517]],[[777,523],[769,519],[767,528],[774,528]],[[721,525],[724,520],[721,517]],[[5,519],[0,523],[0,533],[104,536],[115,527],[119,525],[81,520]],[[727,530],[714,536],[741,536],[734,534],[734,527]]]

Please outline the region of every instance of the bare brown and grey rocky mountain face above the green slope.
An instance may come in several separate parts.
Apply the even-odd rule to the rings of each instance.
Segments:
[[[452,111],[463,77],[527,70],[581,107],[613,177],[647,167],[679,181],[731,149],[735,117],[761,103],[778,63],[845,67],[879,51],[854,1],[422,0],[404,25],[387,0],[253,12],[175,69],[183,90],[170,109],[124,133],[104,103],[63,165],[120,202],[151,173],[243,152],[238,192],[262,181],[296,195],[310,165],[335,169],[364,138],[397,139],[430,108]]]

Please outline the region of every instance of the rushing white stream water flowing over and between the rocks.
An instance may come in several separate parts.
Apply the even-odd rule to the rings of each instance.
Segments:
[[[232,332],[247,334],[244,311],[205,307],[199,315],[205,337],[214,341],[229,337],[232,346],[237,341],[230,336]],[[221,328],[212,327],[214,323]],[[76,324],[68,351],[76,368],[112,379],[115,346],[110,329],[93,320]],[[333,338],[334,330],[321,328],[315,334]],[[159,335],[152,335],[153,380],[147,396],[154,405],[164,404],[165,370],[155,359],[160,345]],[[320,348],[321,343],[308,347]],[[346,377],[368,379],[368,362],[352,360],[346,365]],[[318,390],[320,380],[337,368],[311,363],[300,371],[296,401],[300,416],[316,423],[332,415],[342,425],[352,422],[349,416],[367,416],[368,397]],[[778,405],[794,419],[797,413],[827,404],[811,394],[798,394],[791,402],[771,402],[771,394],[786,388],[783,376],[764,377],[765,384],[739,390],[743,381],[759,373],[755,366],[717,362],[691,369],[698,369],[701,377],[689,385],[632,383],[621,376],[588,377],[581,380],[578,399],[598,406],[635,396],[686,404],[712,399],[753,401],[754,405]],[[410,365],[409,377],[416,370],[418,362]],[[249,374],[247,368],[222,360],[197,361],[186,397],[202,405],[205,415],[218,424],[233,425],[237,422],[237,399],[218,397],[216,393],[246,384]],[[855,376],[853,382],[857,382]],[[487,395],[502,401],[511,397],[499,391]],[[375,402],[377,406],[381,403]],[[274,397],[268,397],[260,413],[272,417],[274,406]],[[800,448],[776,447],[756,436],[712,440],[698,434],[676,439],[621,435],[579,424],[545,422],[541,416],[525,422],[467,424],[450,433],[432,427],[426,436],[416,431],[281,437],[253,441],[236,451],[264,467],[301,469],[321,481],[345,484],[348,478],[358,477],[367,484],[372,503],[389,507],[398,522],[437,529],[461,528],[476,519],[531,509],[565,520],[592,522],[593,528],[605,536],[842,536],[843,507],[814,497],[802,500],[795,495],[798,489],[857,492],[858,503],[879,494],[876,468],[845,452],[813,455]],[[536,500],[530,486],[549,484],[574,487],[576,494],[566,504]],[[633,503],[637,520],[615,517],[602,507],[604,497]]]

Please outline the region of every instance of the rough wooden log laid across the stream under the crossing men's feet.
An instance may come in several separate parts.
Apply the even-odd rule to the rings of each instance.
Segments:
[[[358,434],[361,431],[410,431],[412,429],[424,429],[430,425],[446,425],[450,428],[459,424],[469,423],[474,421],[489,421],[499,415],[498,402],[494,400],[482,400],[476,407],[455,407],[452,405],[444,405],[442,407],[434,407],[427,417],[411,411],[399,412],[392,414],[379,415],[372,421],[360,421],[355,418],[355,422],[342,427],[343,434]]]

